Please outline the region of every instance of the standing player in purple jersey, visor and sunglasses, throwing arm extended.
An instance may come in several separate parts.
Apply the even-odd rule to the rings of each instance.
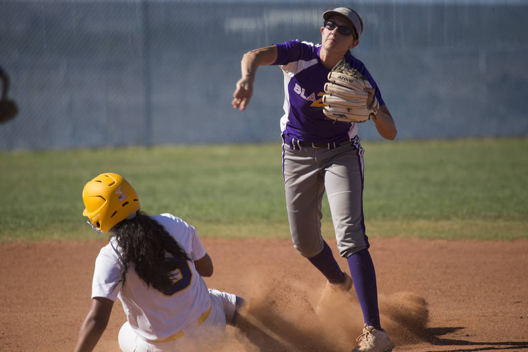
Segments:
[[[353,122],[328,120],[323,114],[327,75],[344,56],[371,83],[380,103],[372,119],[379,134],[394,139],[394,120],[378,85],[351,53],[363,31],[360,16],[338,7],[323,14],[322,42],[298,40],[249,51],[241,61],[242,78],[232,106],[244,110],[253,92],[256,70],[279,65],[284,73],[284,111],[280,120],[286,207],[294,247],[328,280],[330,287],[350,290],[351,278],[341,271],[321,236],[321,204],[326,190],[340,255],[347,259],[365,326],[353,351],[390,351],[394,347],[381,328],[374,265],[363,216],[363,148]]]

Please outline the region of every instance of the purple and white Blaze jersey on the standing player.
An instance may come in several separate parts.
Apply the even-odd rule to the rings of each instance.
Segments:
[[[328,70],[319,59],[320,44],[298,40],[278,44],[277,60],[284,73],[284,112],[280,128],[284,134],[309,142],[334,142],[353,138],[355,122],[329,120],[323,113],[324,85]],[[345,59],[363,74],[375,90],[380,106],[384,105],[378,85],[360,60],[346,52]]]

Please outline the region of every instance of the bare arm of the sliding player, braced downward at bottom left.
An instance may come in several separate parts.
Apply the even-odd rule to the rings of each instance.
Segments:
[[[94,297],[90,311],[79,330],[74,352],[92,351],[96,347],[110,319],[114,301],[103,297]]]

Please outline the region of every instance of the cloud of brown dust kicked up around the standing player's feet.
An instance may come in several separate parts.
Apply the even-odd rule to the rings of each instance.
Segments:
[[[249,304],[228,328],[219,351],[350,351],[361,335],[363,315],[354,290],[334,291],[303,283],[287,269],[260,268],[248,275]],[[427,302],[411,292],[379,295],[383,328],[396,345],[420,341]]]

